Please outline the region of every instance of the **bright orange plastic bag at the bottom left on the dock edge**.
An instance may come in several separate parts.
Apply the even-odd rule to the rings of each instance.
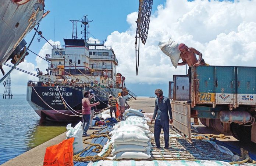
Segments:
[[[46,148],[44,166],[74,166],[73,163],[73,142],[74,137]]]

